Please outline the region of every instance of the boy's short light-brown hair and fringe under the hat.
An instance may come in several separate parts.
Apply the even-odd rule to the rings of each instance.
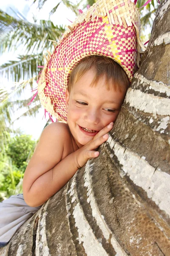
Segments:
[[[130,86],[127,74],[116,61],[113,61],[108,57],[93,55],[83,58],[73,68],[68,82],[68,91],[70,92],[73,84],[91,69],[95,72],[91,86],[96,85],[102,76],[105,76],[105,82],[108,90],[110,90],[112,86],[115,90],[126,92]]]

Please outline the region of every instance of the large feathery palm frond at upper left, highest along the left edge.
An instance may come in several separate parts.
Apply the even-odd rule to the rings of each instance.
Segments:
[[[0,11],[0,20],[3,19],[3,27],[8,28],[14,24],[14,29],[0,34],[0,54],[5,51],[16,50],[23,47],[26,54],[29,52],[43,52],[52,47],[51,40],[57,40],[65,31],[63,26],[54,26],[51,20],[40,20],[40,24],[30,23],[25,20],[17,20],[14,17]]]

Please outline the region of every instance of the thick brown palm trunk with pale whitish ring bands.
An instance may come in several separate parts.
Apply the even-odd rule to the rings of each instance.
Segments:
[[[100,155],[0,256],[170,256],[170,0]]]

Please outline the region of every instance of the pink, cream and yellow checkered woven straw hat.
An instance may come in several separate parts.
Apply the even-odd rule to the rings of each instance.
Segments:
[[[59,38],[42,70],[38,94],[45,110],[67,121],[65,90],[71,70],[89,55],[102,55],[119,63],[133,78],[139,40],[139,10],[131,0],[99,0],[82,13]],[[140,46],[139,46],[140,45]]]

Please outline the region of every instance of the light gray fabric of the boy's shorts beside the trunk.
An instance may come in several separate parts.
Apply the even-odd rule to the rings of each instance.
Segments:
[[[0,202],[0,247],[5,246],[19,227],[41,207],[30,207],[23,194]]]

